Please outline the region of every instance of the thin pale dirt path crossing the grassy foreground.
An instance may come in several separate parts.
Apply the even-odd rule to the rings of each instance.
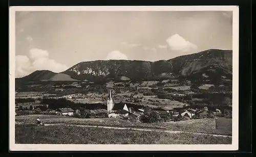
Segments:
[[[129,128],[129,127],[112,127],[112,126],[96,126],[96,125],[75,125],[75,124],[63,124],[63,123],[55,123],[55,124],[45,124],[46,126],[51,125],[69,125],[69,126],[80,126],[80,127],[99,127],[99,128],[112,128],[112,129],[131,129],[131,130],[140,130],[140,131],[148,131],[148,132],[165,132],[170,134],[177,134],[177,133],[188,133],[188,134],[195,134],[195,135],[211,135],[215,137],[231,137],[226,135],[216,135],[216,134],[204,134],[204,133],[193,133],[193,132],[182,132],[176,130],[161,130],[161,129],[147,129],[147,128]]]

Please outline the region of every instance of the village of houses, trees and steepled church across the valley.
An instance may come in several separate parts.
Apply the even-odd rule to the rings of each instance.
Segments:
[[[79,97],[79,95],[77,95]],[[81,95],[82,96],[82,95]],[[66,96],[70,98],[71,95]],[[39,105],[40,101],[36,100],[38,105],[32,106],[32,103],[27,103],[27,107],[22,108],[16,106],[15,115],[23,114],[52,114],[70,116],[75,118],[120,118],[120,119],[137,119],[142,122],[155,122],[155,121],[180,121],[188,119],[201,119],[201,118],[214,118],[221,116],[222,112],[219,109],[209,111],[207,107],[202,109],[184,108],[171,108],[171,107],[142,107],[133,108],[126,105],[126,103],[113,103],[111,90],[109,90],[107,109],[105,107],[98,107],[97,109],[85,110],[84,108],[72,109],[71,107],[58,108],[56,110],[49,109],[48,104]],[[27,112],[26,112],[27,111]],[[153,118],[151,118],[153,117]],[[144,118],[144,120],[143,120]],[[147,120],[146,120],[147,119]]]

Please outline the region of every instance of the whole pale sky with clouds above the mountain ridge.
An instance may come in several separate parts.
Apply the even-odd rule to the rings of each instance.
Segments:
[[[232,49],[232,12],[17,11],[15,77],[84,61],[169,60]]]

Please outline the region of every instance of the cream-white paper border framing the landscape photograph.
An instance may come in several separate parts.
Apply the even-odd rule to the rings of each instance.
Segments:
[[[232,11],[232,144],[230,145],[101,145],[15,144],[15,12],[16,11]],[[9,149],[11,151],[201,151],[238,150],[239,121],[239,7],[238,6],[23,6],[9,10]]]

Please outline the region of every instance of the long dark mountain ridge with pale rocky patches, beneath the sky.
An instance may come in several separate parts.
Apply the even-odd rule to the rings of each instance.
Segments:
[[[232,50],[208,49],[196,54],[156,62],[108,60],[80,62],[61,73],[37,70],[23,81],[77,81],[97,79],[154,80],[186,77],[209,80],[232,79]]]

